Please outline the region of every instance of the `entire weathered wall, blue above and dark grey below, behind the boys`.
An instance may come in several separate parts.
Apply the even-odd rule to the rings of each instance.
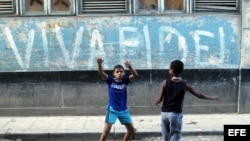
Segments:
[[[219,101],[187,95],[186,113],[249,113],[249,0],[240,14],[0,18],[0,115],[104,114],[97,75],[130,59],[140,76],[129,87],[133,114],[159,114],[154,100],[169,63]],[[109,71],[110,72],[110,71]]]

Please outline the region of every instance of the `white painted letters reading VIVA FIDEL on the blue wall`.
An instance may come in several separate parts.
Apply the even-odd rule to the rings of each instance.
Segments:
[[[44,68],[50,67],[50,47],[49,47],[49,37],[48,37],[48,29],[43,28],[46,23],[39,24],[39,29],[41,32],[41,40],[40,48],[38,50],[43,52],[43,58],[40,62],[43,62]],[[217,28],[217,33],[213,33],[207,30],[193,30],[189,32],[189,37],[185,37],[178,29],[170,27],[170,26],[160,26],[159,27],[159,34],[155,35],[157,37],[152,37],[149,31],[149,26],[144,25],[141,32],[139,31],[138,27],[132,27],[132,26],[126,26],[126,27],[119,27],[118,29],[118,44],[119,44],[119,52],[117,54],[113,54],[114,57],[118,57],[119,63],[123,63],[124,59],[126,59],[127,54],[129,52],[129,49],[132,50],[129,52],[130,56],[141,56],[138,57],[136,60],[132,60],[134,62],[140,62],[139,59],[143,59],[144,63],[138,63],[137,68],[138,69],[152,69],[152,68],[159,68],[161,69],[161,64],[164,64],[164,59],[166,54],[168,54],[169,47],[168,45],[175,44],[176,45],[176,52],[179,52],[179,59],[181,59],[184,62],[187,62],[190,57],[192,57],[192,60],[195,60],[193,62],[194,64],[202,64],[202,65],[216,65],[216,64],[223,64],[225,63],[226,59],[226,46],[225,46],[225,32],[223,27]],[[32,51],[34,51],[34,42],[36,38],[35,30],[29,29],[29,32],[26,33],[27,35],[27,41],[26,41],[26,47],[24,53],[20,53],[21,49],[18,46],[17,43],[17,36],[12,33],[11,29],[7,26],[3,28],[3,34],[5,43],[12,50],[13,56],[16,59],[17,64],[22,70],[29,70],[30,66],[32,64]],[[51,32],[51,31],[50,31]],[[77,31],[75,32],[75,38],[74,41],[68,41],[67,37],[65,37],[64,31],[59,27],[55,26],[54,29],[52,29],[52,32],[54,34],[54,38],[57,40],[61,55],[58,56],[58,58],[64,59],[64,64],[68,69],[77,69],[80,68],[79,66],[79,58],[83,52],[85,54],[88,54],[87,57],[85,57],[84,65],[86,65],[86,69],[91,70],[95,69],[95,58],[98,56],[101,56],[103,58],[108,58],[108,56],[111,56],[110,52],[112,52],[112,49],[114,47],[112,46],[111,42],[105,42],[105,33],[103,33],[99,29],[91,30],[90,38],[89,38],[89,44],[83,44],[83,38],[85,33],[85,28],[83,26],[80,26]],[[73,32],[73,31],[72,31]],[[126,33],[130,33],[130,35],[127,35]],[[133,35],[133,36],[132,36]],[[219,37],[216,38],[215,37]],[[173,43],[174,38],[177,39],[176,42]],[[187,42],[187,38],[191,38],[192,44],[191,46],[194,47],[193,49],[190,49],[191,41]],[[216,55],[212,55],[210,51],[210,45],[207,45],[206,43],[203,43],[203,40],[201,38],[210,38],[211,40],[218,41]],[[73,44],[68,44],[69,42],[74,42]],[[153,45],[154,42],[158,43],[158,49],[155,49],[155,45]],[[71,47],[69,47],[71,46]],[[85,49],[83,49],[81,46],[84,46]],[[88,49],[88,52],[86,52],[86,48]],[[132,49],[131,49],[132,48]],[[37,48],[36,48],[37,49]],[[110,51],[110,50],[111,51]],[[143,51],[143,53],[139,53],[140,51]],[[190,52],[194,52],[193,55],[190,55]],[[206,59],[202,58],[202,53],[204,54],[210,54],[208,55]],[[1,54],[4,54],[4,50],[0,50]],[[165,53],[165,54],[164,54]],[[174,52],[172,52],[174,54]],[[157,57],[158,56],[158,57]],[[56,57],[55,57],[56,58]],[[81,57],[80,57],[81,58]],[[159,58],[159,59],[157,59]],[[37,59],[37,58],[36,58]],[[11,61],[11,60],[10,60]],[[12,60],[13,61],[13,60]],[[108,59],[108,61],[112,62],[111,59]],[[7,62],[8,63],[8,62]],[[157,65],[160,64],[160,65]],[[112,64],[113,65],[113,64]],[[235,65],[235,64],[228,64],[228,65]],[[167,66],[167,65],[166,65]]]

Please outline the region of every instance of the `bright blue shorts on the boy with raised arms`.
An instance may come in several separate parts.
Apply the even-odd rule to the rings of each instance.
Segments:
[[[111,106],[107,108],[105,122],[114,124],[116,120],[119,120],[122,125],[132,124],[132,118],[128,110],[116,111]]]

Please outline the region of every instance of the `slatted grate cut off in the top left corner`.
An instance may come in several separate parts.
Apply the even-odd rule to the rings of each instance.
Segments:
[[[0,14],[12,14],[14,12],[13,0],[0,0]]]

